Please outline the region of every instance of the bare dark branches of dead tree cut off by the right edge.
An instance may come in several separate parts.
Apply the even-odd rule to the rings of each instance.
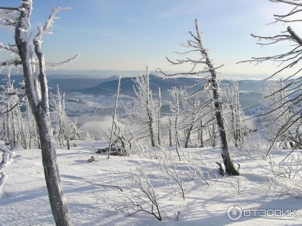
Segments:
[[[296,20],[294,17],[300,15],[302,12],[302,3],[300,0],[270,0],[276,4],[284,4],[288,6],[292,6],[293,9],[284,14],[284,15],[274,15],[274,22],[278,23],[281,22],[283,24],[288,23],[299,23],[302,20]],[[302,71],[301,66],[299,66],[300,61],[302,60],[302,39],[300,36],[294,31],[290,26],[287,26],[286,31],[281,32],[281,34],[273,35],[273,36],[257,36],[251,34],[253,38],[258,39],[257,42],[260,46],[267,46],[267,45],[274,45],[276,43],[289,43],[289,50],[285,53],[276,54],[267,57],[253,57],[251,60],[246,60],[238,63],[243,62],[255,62],[257,65],[258,63],[262,63],[264,61],[272,61],[276,63],[278,70],[274,72],[270,77],[266,78],[270,79],[276,75],[280,75],[280,73],[285,72],[287,69],[291,69],[290,75],[284,79],[284,82],[287,84],[283,87],[278,88],[273,93],[265,96],[265,98],[269,98],[274,96],[276,93],[282,93],[282,98],[276,100],[276,102],[271,103],[272,106],[275,106],[272,109],[264,112],[261,116],[270,117],[271,114],[274,114],[274,111],[282,110],[282,115],[286,114],[288,111],[292,111],[292,116],[289,117],[281,127],[278,128],[278,131],[274,138],[272,139],[271,146],[267,152],[267,156],[271,153],[271,150],[276,143],[276,141],[282,139],[284,135],[288,134],[289,131],[296,128],[296,125],[302,124],[302,94],[301,94],[301,85],[302,85],[302,76],[299,75],[300,71]],[[286,91],[284,93],[284,91]],[[301,146],[302,143],[300,142],[300,127],[296,131],[296,136],[292,136],[292,140],[295,144]]]

